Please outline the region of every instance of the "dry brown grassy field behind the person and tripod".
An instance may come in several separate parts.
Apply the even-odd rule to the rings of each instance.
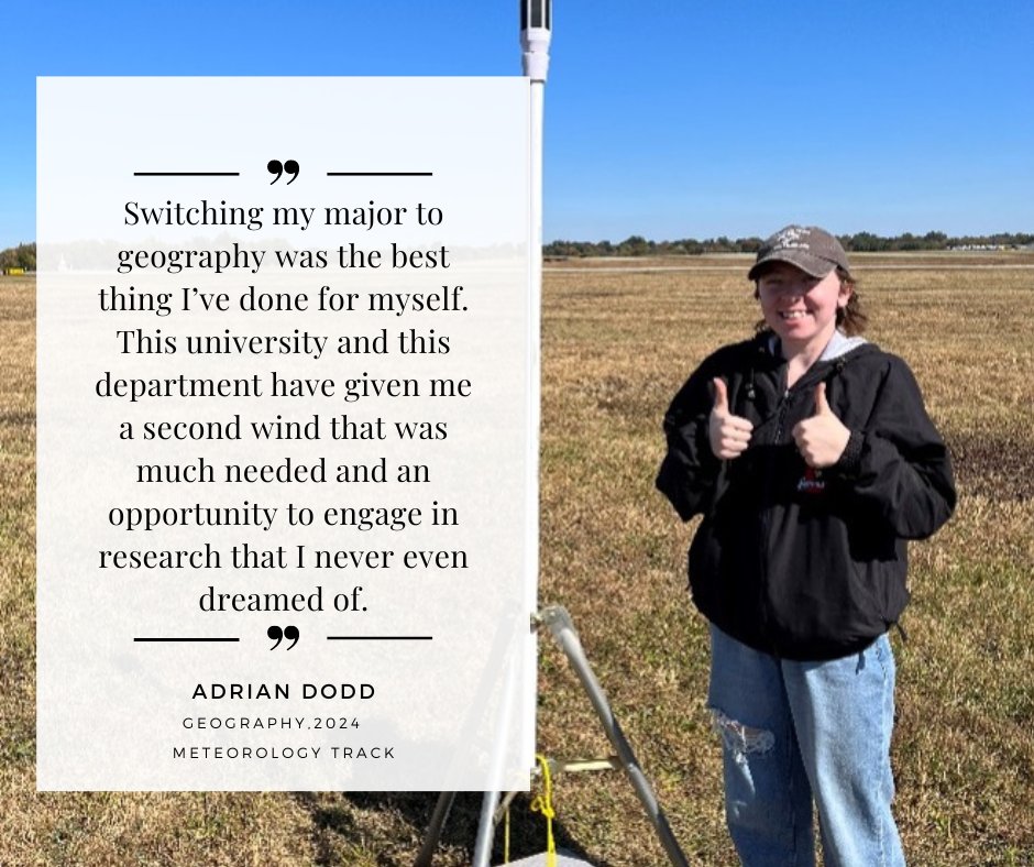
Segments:
[[[571,611],[680,843],[708,866],[736,861],[684,591],[693,527],[653,475],[674,389],[758,318],[748,262],[551,263],[543,301],[540,599]],[[869,337],[912,364],[961,494],[912,548],[910,640],[894,637],[905,849],[914,865],[1034,865],[1034,255],[856,266]],[[410,864],[432,794],[35,792],[33,329],[34,283],[0,278],[0,864]],[[540,647],[539,748],[607,755],[562,655]],[[553,793],[560,845],[601,866],[666,863],[619,773],[563,776]],[[479,806],[458,799],[436,864],[470,861]],[[515,858],[544,847],[525,797],[513,836]]]

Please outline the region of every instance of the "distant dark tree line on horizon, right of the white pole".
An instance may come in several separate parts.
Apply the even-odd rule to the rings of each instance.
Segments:
[[[956,250],[956,249],[1016,249],[1034,245],[1034,234],[1005,232],[989,235],[949,237],[944,232],[926,234],[904,234],[884,238],[872,232],[838,235],[844,249],[858,253],[890,253],[913,250]],[[762,244],[760,238],[737,238],[721,235],[697,241],[686,238],[681,241],[648,241],[642,235],[634,234],[618,243],[610,241],[552,241],[542,248],[547,256],[663,256],[690,255],[703,253],[757,253]]]

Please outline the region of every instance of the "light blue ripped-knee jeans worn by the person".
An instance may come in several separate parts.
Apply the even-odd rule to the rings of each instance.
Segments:
[[[745,867],[813,867],[812,799],[827,867],[903,867],[891,815],[894,657],[794,662],[711,627],[707,703],[722,735],[725,812]]]

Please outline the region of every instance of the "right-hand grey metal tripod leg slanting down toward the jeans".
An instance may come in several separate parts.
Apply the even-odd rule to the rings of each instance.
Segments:
[[[596,680],[592,666],[588,665],[588,659],[585,657],[584,649],[582,649],[582,643],[578,637],[578,633],[574,630],[574,624],[571,622],[571,615],[568,614],[566,610],[561,605],[550,605],[540,612],[539,618],[549,627],[553,638],[557,639],[564,655],[574,667],[574,671],[582,682],[582,688],[588,695],[588,700],[592,702],[593,709],[600,717],[600,722],[603,723],[607,738],[617,750],[622,768],[631,782],[632,788],[636,790],[639,802],[650,817],[650,822],[653,823],[657,836],[660,838],[664,852],[668,853],[668,859],[674,867],[689,867],[685,855],[675,841],[674,834],[671,833],[668,817],[657,803],[653,790],[650,788],[650,783],[639,768],[639,762],[636,760],[631,746],[625,738],[625,734],[617,724],[617,720],[614,718],[614,713],[610,711],[606,693],[604,693],[603,689],[600,687],[600,681]]]

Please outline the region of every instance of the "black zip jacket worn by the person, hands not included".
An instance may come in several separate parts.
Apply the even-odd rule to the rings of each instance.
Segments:
[[[865,343],[820,361],[785,388],[769,337],[706,359],[664,417],[657,486],[683,520],[702,514],[690,547],[693,601],[719,629],[788,659],[855,652],[898,622],[909,601],[906,539],[931,536],[955,507],[944,441],[909,366]],[[746,452],[718,461],[708,441],[711,381],[754,422]],[[851,431],[833,468],[811,470],[792,430],[815,386]]]

